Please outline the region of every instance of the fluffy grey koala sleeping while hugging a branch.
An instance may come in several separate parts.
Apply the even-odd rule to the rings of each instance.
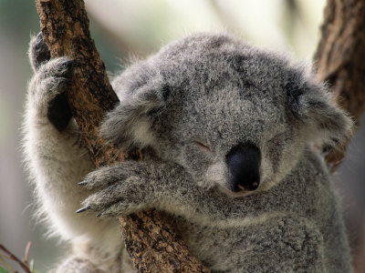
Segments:
[[[95,169],[65,98],[74,62],[49,60],[41,35],[29,56],[26,162],[39,214],[73,247],[58,272],[133,270],[115,217],[148,208],[212,272],[352,272],[315,147],[352,122],[306,66],[226,34],[174,41],[113,79],[120,103],[100,126],[144,159]]]

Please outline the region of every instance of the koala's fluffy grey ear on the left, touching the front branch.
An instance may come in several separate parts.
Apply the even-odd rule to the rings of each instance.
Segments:
[[[128,93],[104,118],[100,134],[123,149],[148,147],[155,139],[151,126],[161,114],[170,89],[152,81]]]

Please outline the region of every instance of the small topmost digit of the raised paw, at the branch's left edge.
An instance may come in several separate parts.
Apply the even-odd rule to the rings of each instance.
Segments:
[[[43,40],[41,32],[30,41],[29,58],[34,71],[37,71],[39,66],[47,63],[51,58],[49,48]]]

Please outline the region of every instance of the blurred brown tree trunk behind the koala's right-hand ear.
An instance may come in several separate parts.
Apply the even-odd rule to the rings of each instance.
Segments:
[[[359,126],[365,107],[365,1],[328,0],[315,55],[318,80],[328,82],[339,106]],[[345,156],[341,146],[326,160],[335,169]]]

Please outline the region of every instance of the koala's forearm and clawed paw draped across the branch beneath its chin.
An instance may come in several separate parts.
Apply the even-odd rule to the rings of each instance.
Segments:
[[[247,206],[242,199],[227,197],[216,188],[198,186],[183,167],[157,158],[101,167],[79,185],[88,189],[102,187],[78,210],[96,211],[102,217],[157,208],[193,222],[226,225],[229,220],[242,219]]]

